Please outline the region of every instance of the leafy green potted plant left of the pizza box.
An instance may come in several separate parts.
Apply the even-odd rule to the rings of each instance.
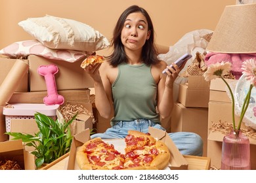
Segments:
[[[6,133],[14,137],[13,140],[22,139],[26,146],[33,146],[34,150],[31,153],[35,156],[37,169],[44,163],[51,163],[70,151],[72,142],[70,124],[75,120],[77,114],[67,122],[64,121],[58,110],[57,116],[58,118],[53,120],[45,114],[35,112],[35,122],[39,128],[37,133],[34,135],[16,132]]]

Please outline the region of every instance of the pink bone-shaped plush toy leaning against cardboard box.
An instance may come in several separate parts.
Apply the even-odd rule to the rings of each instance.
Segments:
[[[58,73],[58,67],[56,65],[41,65],[37,69],[37,73],[45,77],[47,96],[43,98],[43,103],[45,105],[62,105],[64,103],[64,97],[58,95],[54,77]]]

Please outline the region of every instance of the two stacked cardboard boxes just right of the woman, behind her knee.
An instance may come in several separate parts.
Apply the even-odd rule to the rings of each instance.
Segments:
[[[209,82],[203,76],[188,76],[186,84],[180,84],[179,99],[171,114],[171,132],[197,133],[203,140],[203,156],[207,156],[207,121]]]

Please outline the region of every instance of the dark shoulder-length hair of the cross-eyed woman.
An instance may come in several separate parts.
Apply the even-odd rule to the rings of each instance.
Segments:
[[[154,42],[154,27],[152,24],[152,20],[144,10],[144,8],[141,8],[137,5],[133,5],[129,8],[127,8],[119,17],[117,20],[116,27],[114,29],[113,38],[111,40],[110,46],[114,46],[114,51],[110,56],[107,58],[110,60],[110,65],[116,67],[119,65],[119,63],[127,63],[128,58],[125,54],[125,50],[123,47],[123,44],[121,42],[121,31],[123,29],[123,25],[125,23],[125,20],[127,16],[133,12],[141,12],[148,22],[148,31],[151,31],[150,38],[145,42],[143,48],[142,48],[142,61],[143,63],[146,63],[146,65],[158,63],[158,54],[157,54],[157,48]]]

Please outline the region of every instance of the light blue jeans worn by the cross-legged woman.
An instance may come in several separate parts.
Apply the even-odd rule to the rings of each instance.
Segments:
[[[131,122],[120,121],[116,125],[108,128],[104,133],[95,133],[91,135],[91,139],[101,137],[102,139],[124,139],[128,135],[129,130],[137,130],[143,133],[148,133],[148,127],[165,130],[160,124],[150,120],[134,120]],[[181,154],[202,156],[203,141],[202,138],[192,132],[175,132],[168,133]]]

